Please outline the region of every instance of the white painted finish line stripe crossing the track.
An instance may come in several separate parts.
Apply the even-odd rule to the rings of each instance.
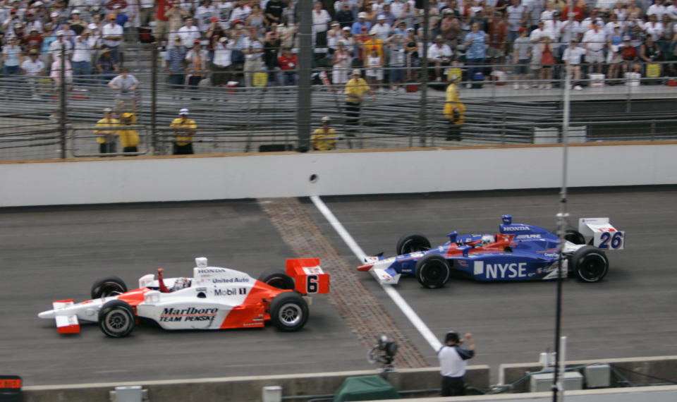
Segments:
[[[355,257],[358,257],[358,260],[364,261],[365,257],[367,256],[364,251],[362,251],[362,248],[360,248],[360,245],[358,245],[357,242],[355,242],[355,239],[353,239],[353,236],[350,236],[350,233],[346,231],[346,228],[343,227],[340,221],[336,219],[334,214],[331,212],[331,210],[327,207],[327,205],[324,204],[324,202],[317,196],[317,195],[312,195],[310,197],[310,200],[312,200],[313,204],[315,204],[315,207],[319,210],[319,212],[324,215],[324,218],[329,221],[329,224],[334,227],[334,230],[336,233],[338,233],[338,236],[341,236],[344,242],[346,242],[346,245],[348,245],[348,248],[353,251],[353,254],[355,254]],[[439,351],[439,348],[442,347],[441,342],[437,339],[436,336],[430,331],[430,329],[427,327],[427,325],[418,317],[416,312],[410,307],[410,305],[402,298],[400,293],[396,291],[396,289],[393,286],[390,285],[384,285],[381,284],[381,287],[383,290],[386,292],[388,296],[394,301],[394,303],[400,307],[400,310],[404,313],[404,315],[409,319],[409,321],[413,324],[413,326],[420,332],[420,334],[423,336],[423,338],[428,342],[430,347],[437,353]]]

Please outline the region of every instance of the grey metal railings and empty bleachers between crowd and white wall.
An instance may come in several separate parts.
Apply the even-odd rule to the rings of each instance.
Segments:
[[[138,68],[131,71],[141,82],[134,110],[142,138],[140,154],[171,153],[173,135],[169,124],[178,109],[184,107],[190,109],[190,116],[197,123],[196,153],[298,149],[297,87],[200,85],[174,89],[166,82],[164,73],[144,68],[147,64],[137,60],[134,65]],[[465,75],[465,66],[451,67],[461,68]],[[446,68],[449,66],[443,67],[445,71]],[[564,90],[559,80],[561,73],[549,81],[549,89],[539,88],[545,83],[543,80],[525,80],[520,89],[515,90],[513,84],[517,81],[512,70],[511,65],[484,66],[487,80],[474,82],[464,77],[458,85],[467,106],[462,127],[463,145],[558,140]],[[322,71],[331,76],[328,68],[314,71],[318,76]],[[387,78],[389,68],[384,71]],[[389,83],[372,86],[376,99],[365,99],[357,126],[347,124],[343,85],[317,81],[312,87],[312,107],[307,114],[314,128],[319,126],[322,116],[331,117],[331,126],[343,138],[338,148],[450,145],[445,140],[449,121],[442,114],[446,84],[434,80],[421,82],[420,69],[413,71],[419,81],[403,83],[397,92],[391,90]],[[433,78],[434,67],[430,72]],[[241,72],[236,71],[232,76],[241,79]],[[585,135],[581,135],[580,140],[676,138],[677,118],[640,107],[643,102],[674,99],[677,87],[652,85],[667,80],[669,78],[601,81],[598,76],[580,80],[585,90],[574,91],[573,101],[607,99],[610,103],[624,104],[622,114],[607,111],[574,114],[572,126],[585,126]],[[426,97],[421,96],[422,85],[428,87]],[[525,90],[524,85],[530,88]],[[111,107],[118,114],[131,111],[130,101],[118,104],[119,95],[98,75],[75,77],[72,84],[66,80],[66,85],[47,77],[0,78],[0,160],[96,155],[92,128],[102,118],[102,109]],[[425,114],[420,113],[421,109]],[[425,122],[421,116],[425,116]]]

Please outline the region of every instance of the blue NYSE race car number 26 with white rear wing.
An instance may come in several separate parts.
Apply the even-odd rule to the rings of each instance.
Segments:
[[[513,224],[503,216],[499,233],[458,235],[436,248],[420,234],[403,236],[397,256],[365,257],[358,271],[371,272],[382,284],[397,284],[402,274],[414,275],[427,288],[439,288],[454,276],[477,281],[540,281],[557,278],[559,236],[547,229]],[[586,236],[590,241],[586,243]],[[609,218],[582,218],[578,231],[568,229],[563,247],[563,276],[575,275],[583,282],[598,282],[609,271],[604,250],[622,250],[625,232]]]

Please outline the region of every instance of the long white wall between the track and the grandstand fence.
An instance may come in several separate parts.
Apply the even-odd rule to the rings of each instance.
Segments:
[[[677,141],[573,144],[567,185],[677,183]],[[0,207],[554,188],[559,145],[0,162]]]

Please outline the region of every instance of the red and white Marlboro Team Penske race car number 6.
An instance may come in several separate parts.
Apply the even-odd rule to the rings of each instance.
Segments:
[[[79,321],[98,322],[107,336],[127,336],[141,319],[164,329],[263,327],[271,321],[283,331],[298,331],[308,319],[313,293],[329,293],[329,274],[317,258],[287,260],[286,274],[268,271],[254,279],[230,268],[209,267],[195,258],[192,278],[147,274],[128,291],[122,279],[109,276],[92,286],[92,300],[57,300],[54,310],[38,314],[56,319],[61,334],[80,332]]]

